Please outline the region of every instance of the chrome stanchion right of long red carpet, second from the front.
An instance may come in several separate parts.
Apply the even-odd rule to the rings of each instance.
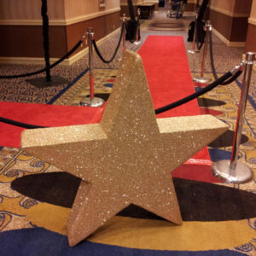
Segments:
[[[205,29],[207,32],[206,32],[206,38],[205,38],[203,57],[202,57],[202,61],[201,61],[201,75],[200,75],[200,77],[193,78],[194,82],[202,83],[202,84],[210,83],[212,81],[212,79],[210,79],[210,78],[204,78],[205,62],[206,62],[206,58],[207,58],[207,49],[208,49],[208,44],[209,44],[209,39],[210,39],[210,32],[212,31],[212,25],[211,25],[210,20],[207,20]]]

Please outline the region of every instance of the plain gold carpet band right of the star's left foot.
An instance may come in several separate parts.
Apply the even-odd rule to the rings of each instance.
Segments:
[[[116,216],[89,240],[140,249],[204,251],[238,247],[254,236],[255,230],[249,228],[247,220],[183,222],[175,226],[160,220]]]

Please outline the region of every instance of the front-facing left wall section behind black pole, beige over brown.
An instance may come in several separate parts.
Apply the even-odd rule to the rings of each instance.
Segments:
[[[48,1],[49,20],[65,20],[64,0]],[[44,56],[40,0],[0,0],[0,56],[13,58]],[[56,8],[57,7],[57,8]],[[19,38],[19,40],[17,40]],[[66,32],[61,26],[49,27],[49,52],[55,57],[67,52]]]

